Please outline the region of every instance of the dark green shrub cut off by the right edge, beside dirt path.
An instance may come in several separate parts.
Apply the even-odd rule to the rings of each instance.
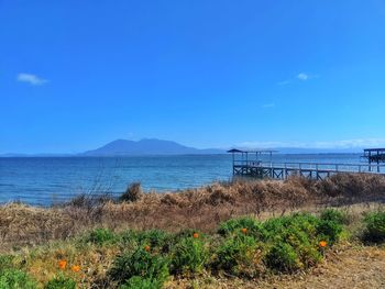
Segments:
[[[370,243],[385,242],[385,211],[369,213],[364,219],[363,241]]]

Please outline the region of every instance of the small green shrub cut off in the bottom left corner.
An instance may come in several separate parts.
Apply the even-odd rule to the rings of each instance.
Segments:
[[[0,273],[1,289],[35,289],[37,285],[22,270],[4,269]]]

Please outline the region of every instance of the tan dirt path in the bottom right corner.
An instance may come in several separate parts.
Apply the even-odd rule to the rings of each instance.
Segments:
[[[206,289],[385,289],[385,247],[344,245],[307,274],[272,277],[257,282],[199,279],[169,288]]]

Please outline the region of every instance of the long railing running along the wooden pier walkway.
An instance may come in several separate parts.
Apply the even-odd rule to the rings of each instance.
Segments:
[[[271,163],[256,160],[234,160],[234,167],[274,168],[289,170],[312,170],[329,173],[371,173],[385,174],[385,165],[336,164],[336,163]]]

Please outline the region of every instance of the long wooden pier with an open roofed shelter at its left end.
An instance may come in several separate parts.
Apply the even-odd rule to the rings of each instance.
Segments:
[[[272,162],[272,154],[275,151],[229,151],[228,153],[232,154],[233,176],[272,179],[287,179],[289,176],[301,176],[308,179],[321,180],[341,173],[385,175],[385,165],[373,165],[372,163],[274,163]],[[268,154],[270,162],[262,162],[258,158],[262,154]],[[240,156],[240,159],[237,159],[235,156]]]

